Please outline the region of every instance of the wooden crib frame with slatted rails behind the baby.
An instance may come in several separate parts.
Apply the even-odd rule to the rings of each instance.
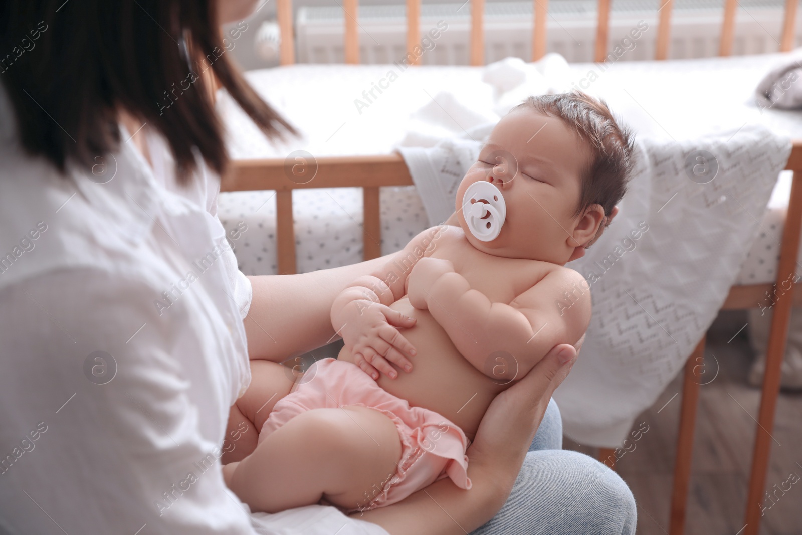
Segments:
[[[294,39],[292,0],[277,0],[277,18],[282,33],[280,61],[282,65],[294,63]],[[470,63],[484,64],[483,14],[484,0],[471,2]],[[546,53],[546,18],[548,0],[533,0],[532,59],[540,59]],[[666,59],[670,43],[670,18],[673,0],[658,0],[658,33],[655,60]],[[407,0],[407,51],[420,40],[420,0]],[[719,55],[731,55],[735,36],[735,13],[738,0],[725,0]],[[786,0],[780,51],[790,51],[795,35],[797,0]],[[358,4],[357,0],[343,0],[345,10],[345,61],[359,63]],[[598,0],[598,18],[594,60],[601,62],[607,55],[610,0]],[[419,63],[420,58],[411,58]],[[398,154],[383,156],[321,157],[316,159],[317,173],[314,185],[298,184],[285,174],[285,161],[281,159],[236,160],[224,177],[222,191],[276,190],[277,211],[277,267],[278,273],[293,274],[295,263],[295,234],[293,228],[293,191],[298,188],[349,188],[359,187],[363,191],[363,241],[364,258],[381,256],[381,225],[379,220],[379,188],[383,186],[412,185],[407,166]],[[780,265],[776,284],[784,282],[786,275],[796,273],[796,258],[800,247],[802,230],[802,140],[795,142],[787,169],[794,172],[788,215],[780,251]],[[733,286],[722,310],[755,308],[772,284]],[[780,390],[780,365],[783,360],[788,335],[788,322],[792,305],[802,304],[802,290],[794,285],[794,291],[784,293],[774,306],[771,334],[768,343],[766,373],[760,402],[755,448],[752,458],[751,477],[747,497],[744,535],[759,532],[760,509],[771,454],[771,436],[777,396]],[[670,505],[670,533],[684,532],[687,497],[691,475],[691,454],[694,442],[696,409],[699,399],[699,381],[695,379],[704,355],[705,337],[687,359],[684,370],[683,400],[678,430],[677,452],[674,464],[674,489]],[[600,458],[610,456],[611,450],[602,450]]]

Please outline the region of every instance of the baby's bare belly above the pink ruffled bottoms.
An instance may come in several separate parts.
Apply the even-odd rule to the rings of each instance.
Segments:
[[[379,386],[406,399],[410,405],[439,412],[459,425],[473,440],[484,411],[496,394],[508,385],[493,382],[468,363],[428,310],[415,309],[407,298],[395,302],[391,308],[418,320],[413,328],[400,330],[415,346],[417,355],[410,359],[412,371],[407,373],[395,367],[399,376],[390,379],[382,374]],[[338,358],[353,362],[345,347]]]

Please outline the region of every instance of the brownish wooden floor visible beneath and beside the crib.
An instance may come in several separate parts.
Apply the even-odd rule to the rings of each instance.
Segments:
[[[712,365],[706,369],[707,379],[703,379],[699,395],[687,535],[736,535],[744,525],[759,390],[746,383],[752,359],[746,330],[728,342],[746,323],[746,314],[723,314],[727,315],[716,320],[707,337],[705,356]],[[715,359],[711,355],[715,355]],[[719,371],[711,380],[716,360]],[[672,399],[677,392],[680,395]],[[638,533],[642,535],[668,533],[681,392],[682,377],[679,375],[654,406],[635,420],[635,428],[646,422],[649,431],[638,440],[633,451],[626,452],[618,461],[618,473],[630,485],[638,502]],[[796,484],[792,481],[802,477],[802,394],[780,394],[772,436],[775,441],[767,490],[771,489],[779,497],[775,497],[774,502],[768,498],[764,501],[764,507],[771,506],[771,509],[764,510],[760,533],[800,535],[802,480]],[[565,448],[596,456],[595,448],[582,447],[567,437]],[[790,485],[790,490],[778,490],[782,484],[785,488]]]

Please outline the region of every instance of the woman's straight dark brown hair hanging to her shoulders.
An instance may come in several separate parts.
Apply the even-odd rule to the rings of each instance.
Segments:
[[[225,50],[214,0],[0,1],[0,82],[22,147],[62,172],[115,152],[124,110],[166,138],[182,182],[195,150],[222,173],[212,72],[265,134],[295,133]]]

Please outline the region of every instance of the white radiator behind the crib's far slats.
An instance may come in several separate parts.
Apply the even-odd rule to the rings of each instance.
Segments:
[[[619,47],[621,60],[654,59],[659,0],[615,0],[610,12],[608,51]],[[569,62],[593,60],[596,40],[597,0],[549,2],[547,51],[559,52]],[[779,50],[784,0],[740,0],[735,15],[734,55],[762,54]],[[484,10],[485,63],[507,56],[527,61],[532,51],[533,2],[487,2]],[[421,6],[420,33],[448,29],[428,44],[422,55],[428,65],[467,65],[470,30],[469,2],[460,5]],[[406,8],[359,6],[359,58],[361,63],[393,63],[406,54]],[[302,7],[296,18],[299,63],[343,63],[342,8]],[[675,0],[671,14],[670,58],[703,58],[719,53],[723,0]],[[630,32],[638,25],[645,31]],[[802,44],[802,32],[796,45]]]

